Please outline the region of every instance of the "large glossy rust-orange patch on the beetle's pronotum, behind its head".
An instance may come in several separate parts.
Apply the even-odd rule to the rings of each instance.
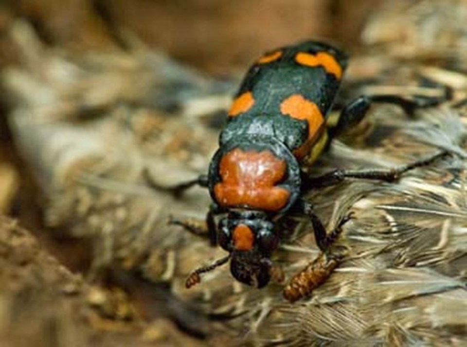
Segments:
[[[221,182],[214,186],[221,206],[245,206],[278,211],[290,192],[275,184],[284,178],[287,164],[268,150],[256,152],[235,148],[220,159]]]

